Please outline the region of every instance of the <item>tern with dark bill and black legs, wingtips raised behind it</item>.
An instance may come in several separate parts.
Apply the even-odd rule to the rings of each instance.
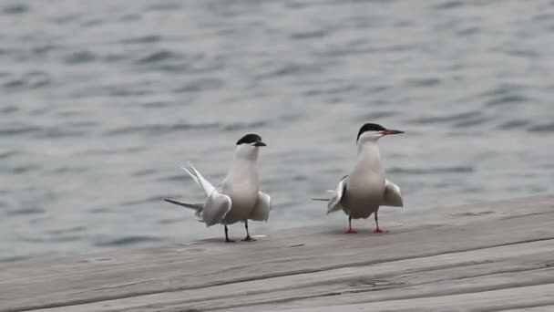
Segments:
[[[196,219],[207,227],[223,224],[227,243],[234,242],[229,239],[227,225],[237,222],[243,222],[246,228],[243,241],[255,241],[248,232],[248,220],[267,222],[272,206],[271,197],[260,191],[258,154],[262,146],[266,144],[257,134],[247,134],[238,140],[231,169],[217,187],[188,162],[190,168],[181,168],[200,186],[206,196],[205,203],[181,203],[171,199],[165,201],[192,209],[196,212]]]

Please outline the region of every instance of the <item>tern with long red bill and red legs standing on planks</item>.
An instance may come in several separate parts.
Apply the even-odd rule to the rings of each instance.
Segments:
[[[346,234],[356,233],[352,229],[352,219],[367,219],[372,213],[376,226],[374,233],[383,233],[377,218],[379,207],[404,207],[400,188],[385,178],[378,145],[379,139],[399,133],[404,131],[385,129],[376,123],[365,123],[358,131],[358,154],[350,174],[338,182],[334,191],[327,191],[332,193],[330,199],[313,199],[329,202],[327,214],[343,210],[348,215]]]

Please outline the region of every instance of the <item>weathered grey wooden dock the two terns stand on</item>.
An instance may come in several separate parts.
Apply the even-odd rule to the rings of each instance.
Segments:
[[[554,196],[380,221],[0,265],[0,311],[554,311]]]

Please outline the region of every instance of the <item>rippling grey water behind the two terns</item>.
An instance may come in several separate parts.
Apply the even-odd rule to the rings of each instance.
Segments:
[[[162,199],[248,132],[256,233],[343,226],[309,198],[368,121],[406,131],[381,149],[409,210],[552,192],[553,33],[546,0],[0,0],[0,261],[222,237]]]

